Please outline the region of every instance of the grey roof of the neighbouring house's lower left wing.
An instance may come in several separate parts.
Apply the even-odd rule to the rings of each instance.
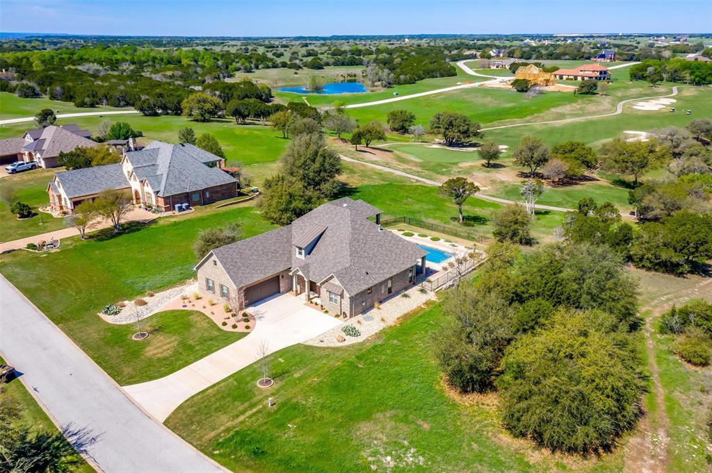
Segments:
[[[73,169],[54,175],[68,198],[90,196],[101,191],[129,187],[121,164],[105,164],[91,168]]]

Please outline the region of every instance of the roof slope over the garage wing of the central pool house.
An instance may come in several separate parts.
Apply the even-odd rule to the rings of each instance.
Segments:
[[[216,248],[213,255],[229,275],[235,287],[242,287],[292,264],[290,225],[246,240]]]

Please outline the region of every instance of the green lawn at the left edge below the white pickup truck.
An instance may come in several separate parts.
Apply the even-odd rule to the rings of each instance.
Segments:
[[[17,198],[31,206],[34,212],[31,218],[17,220],[17,216],[11,213],[10,207],[0,201],[0,222],[2,223],[0,225],[0,242],[65,228],[65,219],[37,212],[38,207],[46,206],[49,203],[47,184],[52,180],[53,175],[54,172],[51,169],[37,169],[0,179],[0,192],[5,188],[13,188]]]

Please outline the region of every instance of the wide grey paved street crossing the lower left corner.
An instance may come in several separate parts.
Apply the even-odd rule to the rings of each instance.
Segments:
[[[0,352],[56,423],[90,430],[86,450],[104,472],[225,471],[140,410],[2,276]]]

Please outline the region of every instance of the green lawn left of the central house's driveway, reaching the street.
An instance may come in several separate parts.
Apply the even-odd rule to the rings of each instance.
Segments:
[[[57,253],[2,255],[0,272],[118,383],[159,378],[239,335],[222,331],[206,316],[162,314],[151,321],[158,331],[136,342],[130,339],[132,326],[112,326],[97,313],[110,302],[194,277],[192,243],[201,228],[234,221],[243,225],[246,237],[273,228],[251,206],[226,209],[194,218],[162,218],[104,241],[68,238]]]

